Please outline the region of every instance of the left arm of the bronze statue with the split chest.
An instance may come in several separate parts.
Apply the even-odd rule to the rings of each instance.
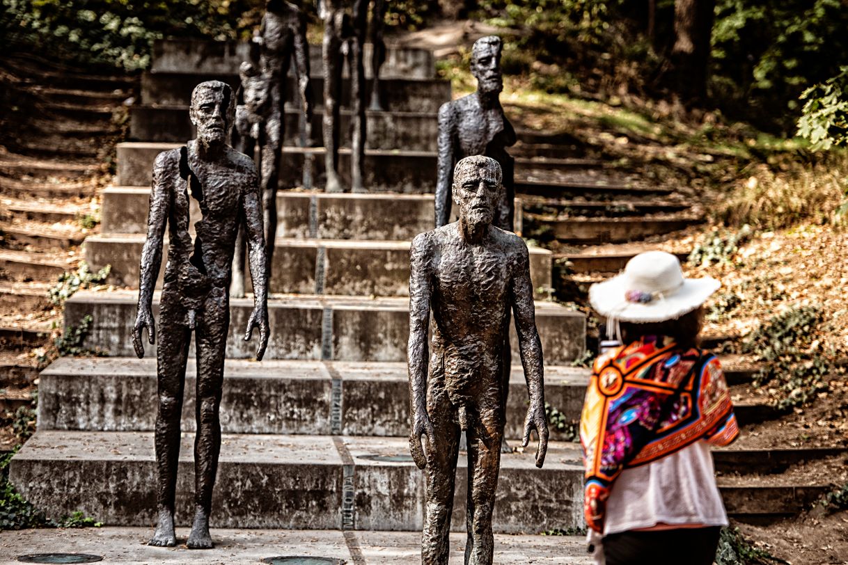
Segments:
[[[142,247],[140,276],[138,282],[138,308],[136,324],[132,330],[132,346],[136,355],[144,357],[142,333],[148,330],[148,341],[156,341],[156,324],[153,320],[153,291],[159,279],[159,267],[162,265],[162,242],[165,239],[165,225],[170,214],[170,174],[175,174],[174,163],[168,163],[168,153],[161,152],[153,162],[153,182],[150,190],[150,210],[148,212],[148,238]]]

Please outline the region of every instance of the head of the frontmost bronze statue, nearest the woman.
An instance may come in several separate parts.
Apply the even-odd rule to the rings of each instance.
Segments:
[[[454,201],[466,224],[491,224],[499,202],[503,174],[493,158],[474,155],[461,159],[454,169]]]

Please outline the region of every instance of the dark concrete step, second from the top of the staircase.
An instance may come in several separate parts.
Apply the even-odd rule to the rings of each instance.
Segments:
[[[239,85],[237,74],[220,73],[152,73],[142,75],[142,102],[145,104],[184,105],[192,97],[192,90],[206,80],[223,80],[233,89]],[[315,101],[321,100],[324,91],[323,77],[312,77]],[[365,80],[365,108],[371,98],[371,80]],[[438,107],[450,100],[450,81],[442,79],[386,79],[380,80],[380,95],[388,108],[395,112],[437,112]],[[285,101],[299,106],[300,94],[294,80],[285,84]],[[342,80],[343,106],[350,106],[350,79]]]

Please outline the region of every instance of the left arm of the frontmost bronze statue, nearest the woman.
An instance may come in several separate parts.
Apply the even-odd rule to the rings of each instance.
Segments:
[[[431,242],[427,234],[416,235],[410,247],[410,341],[406,347],[410,375],[410,413],[412,430],[410,451],[418,468],[427,457],[421,447],[421,435],[431,445],[434,432],[427,415],[427,360],[429,354],[430,298],[432,295]]]

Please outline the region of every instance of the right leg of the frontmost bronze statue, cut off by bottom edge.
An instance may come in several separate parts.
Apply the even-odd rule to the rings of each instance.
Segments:
[[[492,512],[504,436],[504,409],[499,403],[499,391],[493,387],[478,398],[477,413],[469,418],[466,565],[492,563]]]

